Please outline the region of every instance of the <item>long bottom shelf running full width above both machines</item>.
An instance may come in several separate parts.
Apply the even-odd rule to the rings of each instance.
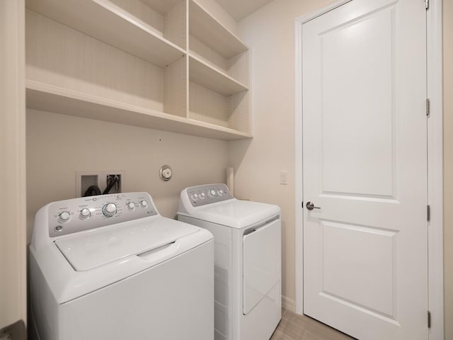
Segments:
[[[50,111],[217,140],[239,140],[252,137],[247,132],[82,94],[39,81],[27,80],[25,84],[27,108],[38,111]]]

